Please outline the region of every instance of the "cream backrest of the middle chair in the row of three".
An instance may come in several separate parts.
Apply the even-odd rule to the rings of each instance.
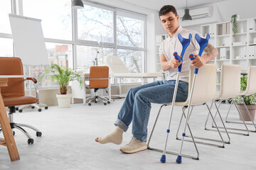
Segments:
[[[234,98],[240,93],[241,66],[223,64],[220,74],[220,99]]]

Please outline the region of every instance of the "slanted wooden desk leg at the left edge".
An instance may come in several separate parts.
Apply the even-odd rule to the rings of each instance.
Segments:
[[[11,161],[16,161],[19,158],[18,155],[18,149],[16,147],[16,143],[14,140],[14,135],[11,131],[11,126],[9,123],[9,120],[7,118],[6,110],[4,108],[4,101],[2,99],[2,96],[0,94],[0,124],[1,124],[1,129],[4,134],[4,140],[5,140],[5,145],[8,149],[9,156],[11,158]]]

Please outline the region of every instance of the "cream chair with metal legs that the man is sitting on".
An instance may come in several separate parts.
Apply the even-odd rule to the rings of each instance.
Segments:
[[[188,81],[188,96],[190,96],[190,94],[191,94],[191,86],[192,86],[192,83],[193,83],[193,71],[194,71],[194,67],[191,67],[190,75],[189,75],[189,81]],[[194,84],[193,96],[191,98],[191,106],[206,105],[207,108],[208,108],[208,111],[210,112],[210,109],[209,109],[206,102],[213,100],[213,98],[215,96],[215,82],[216,82],[216,65],[215,64],[206,64],[205,66],[201,67],[199,69],[198,75],[196,77],[196,82]],[[175,106],[183,106],[183,108],[182,108],[183,114],[181,116],[181,120],[182,120],[183,116],[185,116],[185,109],[188,107],[188,101],[189,101],[189,98],[187,98],[187,100],[184,101],[184,102],[175,102]],[[166,103],[166,104],[162,105],[159,109],[159,113],[156,116],[156,120],[155,120],[153,129],[151,130],[151,134],[149,136],[148,149],[156,150],[158,152],[163,152],[163,149],[157,149],[157,148],[150,147],[149,144],[150,144],[150,141],[151,141],[151,137],[154,133],[154,128],[156,126],[157,120],[158,120],[159,115],[161,113],[161,108],[163,106],[168,106],[168,105],[171,105],[171,103]],[[191,113],[188,115],[188,118],[190,118],[190,115],[191,115]],[[210,113],[210,115],[213,118],[213,115],[211,113]],[[214,119],[213,119],[213,122],[215,123]],[[180,128],[180,126],[181,126],[181,122],[178,126],[178,129]],[[208,138],[205,138],[205,137],[195,137],[195,136],[193,136],[192,132],[191,132],[191,128],[190,128],[189,125],[188,125],[188,130],[191,133],[191,136],[186,135],[186,137],[192,137],[192,142],[193,142],[193,144],[196,148],[197,156],[194,157],[194,156],[191,156],[191,155],[183,154],[182,157],[190,157],[190,158],[193,158],[193,159],[199,159],[199,152],[198,152],[198,149],[196,147],[196,141],[195,141],[195,139],[197,139],[197,138],[201,139],[201,140],[212,140],[213,142],[220,142],[221,144],[216,145],[216,146],[224,147],[225,142],[224,142],[223,137],[221,136],[220,132],[218,132],[218,134],[220,135],[220,140],[216,140],[216,139],[208,139]],[[178,140],[180,139],[178,137],[178,132],[177,132],[176,137],[177,137]],[[201,143],[209,144],[209,143],[206,143],[206,142],[201,142]],[[214,145],[214,144],[210,144],[210,145]],[[178,155],[178,153],[176,153],[176,152],[166,151],[166,153]]]

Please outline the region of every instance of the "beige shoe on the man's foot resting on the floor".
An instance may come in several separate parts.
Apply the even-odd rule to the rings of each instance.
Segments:
[[[127,154],[132,154],[132,153],[143,151],[146,149],[147,149],[146,142],[142,142],[140,140],[137,140],[135,137],[132,137],[132,140],[129,142],[129,144],[124,145],[119,150]]]

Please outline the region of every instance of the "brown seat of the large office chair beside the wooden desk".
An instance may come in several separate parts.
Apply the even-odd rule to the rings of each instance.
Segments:
[[[36,103],[38,101],[37,98],[33,96],[7,96],[3,98],[4,106],[18,106],[18,105],[26,105],[31,103]]]

